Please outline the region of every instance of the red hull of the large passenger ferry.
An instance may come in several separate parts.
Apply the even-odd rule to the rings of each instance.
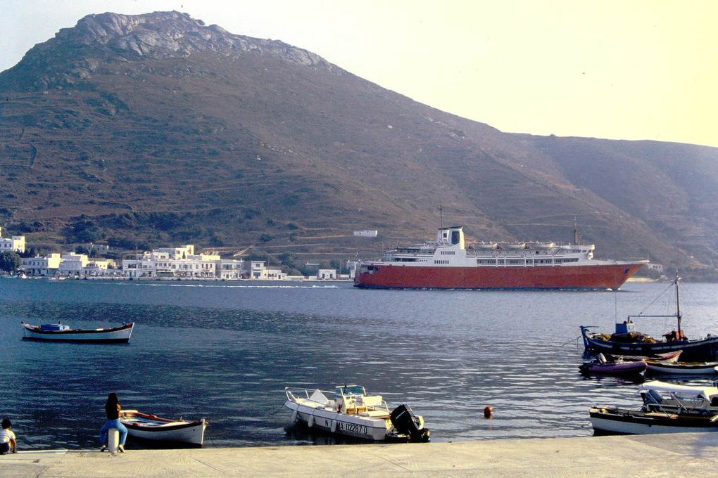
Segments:
[[[575,289],[615,290],[643,263],[553,267],[422,267],[368,264],[355,287],[373,289]]]

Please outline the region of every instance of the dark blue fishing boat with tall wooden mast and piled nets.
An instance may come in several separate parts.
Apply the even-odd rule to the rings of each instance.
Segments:
[[[691,339],[686,337],[681,328],[681,302],[679,293],[680,277],[676,276],[671,286],[676,289],[676,313],[673,315],[629,315],[623,322],[617,322],[615,333],[598,333],[590,329],[592,325],[582,325],[581,335],[586,350],[593,353],[606,353],[610,355],[657,355],[683,350],[681,359],[686,361],[713,361],[718,354],[718,335],[708,334],[704,338]],[[664,291],[665,292],[665,291]],[[655,339],[650,335],[637,332],[633,319],[646,317],[675,317],[676,330]]]

